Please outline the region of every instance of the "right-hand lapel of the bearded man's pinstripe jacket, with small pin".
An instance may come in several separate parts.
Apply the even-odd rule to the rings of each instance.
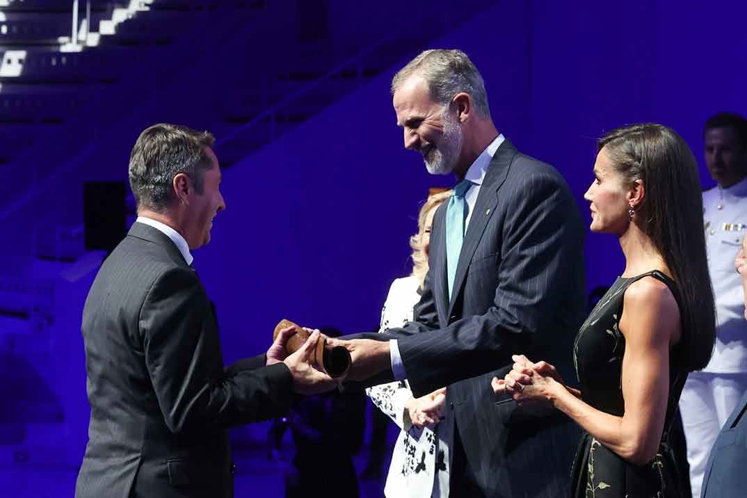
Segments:
[[[472,211],[464,242],[462,243],[462,251],[459,252],[459,263],[456,265],[456,276],[454,276],[454,292],[451,294],[449,301],[447,317],[451,316],[456,298],[462,292],[462,284],[467,275],[472,256],[498,205],[498,189],[500,189],[503,181],[506,180],[509,166],[511,166],[511,161],[516,154],[517,150],[506,139],[500,144],[500,147],[498,147],[498,150],[490,161],[488,172],[483,179],[480,193],[477,195],[477,201],[474,204],[474,210]],[[446,273],[445,270],[443,273]]]

